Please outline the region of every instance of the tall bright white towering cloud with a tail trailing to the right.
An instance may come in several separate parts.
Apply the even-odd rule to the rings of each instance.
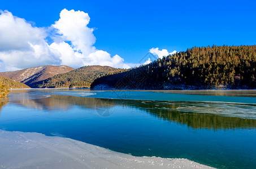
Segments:
[[[96,38],[93,35],[93,29],[88,28],[90,17],[83,11],[68,11],[66,9],[60,12],[60,19],[53,24],[57,29],[60,43],[52,43],[50,47],[59,51],[62,64],[77,65],[102,65],[115,68],[129,68],[124,64],[124,59],[118,55],[113,57],[109,53],[97,50],[94,47]],[[71,42],[71,46],[68,43]]]

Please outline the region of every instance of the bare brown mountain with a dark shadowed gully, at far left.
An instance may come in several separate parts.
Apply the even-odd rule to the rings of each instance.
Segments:
[[[16,70],[14,72],[1,72],[0,76],[13,79],[15,81],[32,86],[33,83],[43,81],[49,77],[60,73],[66,73],[74,70],[69,66],[38,66],[34,68],[27,68],[22,70]]]

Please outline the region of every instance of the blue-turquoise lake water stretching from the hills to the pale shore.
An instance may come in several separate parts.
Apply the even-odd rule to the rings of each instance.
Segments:
[[[137,156],[256,168],[255,91],[20,90],[0,129],[63,136]]]

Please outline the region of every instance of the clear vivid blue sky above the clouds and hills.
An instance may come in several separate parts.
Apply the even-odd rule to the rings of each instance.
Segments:
[[[256,1],[2,1],[1,10],[37,27],[60,11],[90,16],[98,50],[137,63],[150,48],[168,52],[193,46],[255,45]]]

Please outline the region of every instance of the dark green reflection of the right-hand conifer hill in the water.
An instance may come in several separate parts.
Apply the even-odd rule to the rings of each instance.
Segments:
[[[238,117],[225,117],[223,115],[213,113],[197,113],[197,110],[179,110],[184,102],[166,102],[166,101],[135,101],[135,100],[116,100],[116,103],[123,106],[130,106],[148,112],[155,117],[175,122],[186,124],[188,127],[195,129],[235,129],[235,128],[256,128],[255,119],[244,119]],[[190,103],[192,104],[192,103]],[[201,106],[202,105],[195,105]],[[214,105],[213,105],[214,106]],[[205,109],[209,109],[205,107]]]

